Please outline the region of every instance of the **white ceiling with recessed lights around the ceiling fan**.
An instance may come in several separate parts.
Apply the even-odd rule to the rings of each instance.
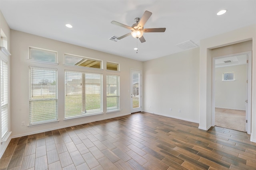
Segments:
[[[228,11],[217,16],[222,9]],[[184,41],[200,45],[201,39],[256,23],[256,0],[0,0],[0,10],[11,29],[138,61],[183,51],[176,45]],[[132,36],[109,40],[130,32],[112,20],[131,26],[145,10],[153,14],[144,28],[166,27],[164,33],[145,33],[138,53]]]

